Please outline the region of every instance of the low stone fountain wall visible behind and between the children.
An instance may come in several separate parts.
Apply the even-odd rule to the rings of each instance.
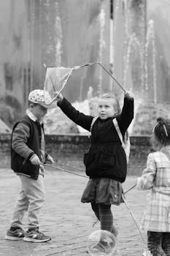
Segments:
[[[80,169],[84,168],[83,154],[90,147],[90,138],[87,135],[46,135],[47,151],[58,162]],[[10,135],[0,135],[0,162],[1,167],[10,166]],[[128,175],[139,176],[146,166],[147,154],[152,151],[150,137],[132,136],[131,154],[128,164]]]

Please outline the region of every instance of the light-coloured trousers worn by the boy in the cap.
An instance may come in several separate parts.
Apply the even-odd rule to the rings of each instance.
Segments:
[[[39,227],[39,211],[45,203],[44,177],[39,175],[37,180],[19,175],[21,190],[11,220],[12,227],[23,225],[23,216],[28,211],[28,228]]]

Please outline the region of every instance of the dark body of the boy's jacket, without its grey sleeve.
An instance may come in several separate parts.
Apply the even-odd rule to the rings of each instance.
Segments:
[[[29,160],[33,154],[37,154],[39,159],[41,159],[41,139],[42,139],[42,132],[41,132],[41,125],[42,129],[43,124],[40,124],[38,121],[32,121],[31,118],[29,118],[27,115],[23,116],[13,127],[12,129],[12,135],[15,130],[15,127],[19,123],[25,124],[27,127],[29,127],[30,136],[28,138],[28,141],[26,145],[28,148],[32,149],[32,153],[28,156],[27,159],[21,157],[19,154],[17,154],[12,149],[12,138],[11,138],[11,168],[15,171],[15,173],[23,173],[27,176],[30,176],[31,178],[37,179],[39,176],[39,165],[32,165],[31,161]],[[47,154],[46,156],[47,157]]]

